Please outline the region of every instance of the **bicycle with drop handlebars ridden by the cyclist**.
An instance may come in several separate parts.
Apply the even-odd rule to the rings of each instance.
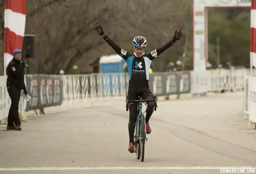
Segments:
[[[154,96],[154,100],[142,100],[141,97],[138,97],[139,100],[129,100],[129,97],[126,96],[126,111],[128,111],[129,101],[130,102],[138,102],[138,118],[136,121],[136,135],[134,135],[134,147],[135,151],[130,153],[136,153],[137,159],[141,159],[141,162],[144,161],[144,153],[145,153],[145,141],[147,141],[147,134],[146,134],[146,125],[145,125],[145,117],[144,113],[142,113],[142,103],[146,106],[145,102],[154,102],[154,111],[156,111],[157,103],[156,103],[156,96]],[[147,107],[148,108],[148,107]]]

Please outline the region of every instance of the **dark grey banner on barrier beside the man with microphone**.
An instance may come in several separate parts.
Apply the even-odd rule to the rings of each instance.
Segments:
[[[25,111],[61,105],[63,101],[63,82],[57,75],[26,75],[28,95],[31,99]]]

